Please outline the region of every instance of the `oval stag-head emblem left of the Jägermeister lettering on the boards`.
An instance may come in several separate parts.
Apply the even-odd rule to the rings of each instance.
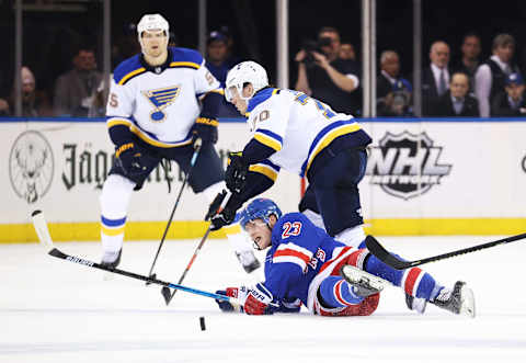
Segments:
[[[32,204],[52,186],[53,150],[44,136],[35,131],[19,135],[9,156],[9,178],[18,196]]]

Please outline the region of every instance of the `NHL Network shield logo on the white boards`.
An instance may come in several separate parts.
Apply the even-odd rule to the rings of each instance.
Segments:
[[[451,165],[439,163],[442,147],[424,132],[389,132],[371,148],[366,174],[388,194],[409,200],[426,193],[448,175]]]

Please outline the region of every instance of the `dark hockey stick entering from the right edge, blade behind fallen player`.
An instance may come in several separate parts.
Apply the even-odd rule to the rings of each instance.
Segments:
[[[493,247],[493,246],[510,243],[510,242],[513,242],[513,241],[516,241],[516,240],[519,240],[519,239],[524,239],[524,238],[526,238],[526,234],[521,234],[521,235],[516,235],[516,236],[512,236],[512,237],[506,237],[506,238],[503,238],[503,239],[498,239],[495,241],[491,241],[491,242],[488,242],[488,243],[478,245],[478,246],[473,246],[473,247],[468,247],[468,248],[465,248],[465,249],[461,249],[461,250],[457,250],[457,251],[453,251],[453,252],[448,252],[448,253],[443,253],[443,254],[438,254],[438,256],[434,256],[434,257],[428,257],[428,258],[421,259],[421,260],[415,260],[415,261],[404,261],[404,260],[399,259],[396,256],[392,256],[373,236],[367,236],[366,237],[365,246],[367,246],[367,249],[370,251],[370,253],[376,256],[381,262],[386,263],[387,265],[390,265],[391,268],[393,268],[396,270],[405,270],[405,269],[414,268],[414,266],[418,266],[418,265],[421,265],[421,264],[424,264],[424,263],[435,262],[435,261],[448,259],[450,257],[483,250],[483,249],[487,249],[487,248],[490,248],[490,247]]]

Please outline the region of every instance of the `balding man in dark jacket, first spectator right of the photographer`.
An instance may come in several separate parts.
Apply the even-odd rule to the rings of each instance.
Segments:
[[[411,83],[400,77],[400,57],[395,50],[380,55],[380,75],[376,82],[378,116],[411,116]]]

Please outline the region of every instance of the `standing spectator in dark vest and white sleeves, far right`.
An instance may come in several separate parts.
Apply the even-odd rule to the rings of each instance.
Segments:
[[[490,116],[491,104],[499,93],[504,92],[506,77],[513,72],[521,73],[517,65],[512,63],[515,52],[515,38],[512,35],[496,35],[491,49],[493,55],[474,73],[474,93],[481,117]]]

